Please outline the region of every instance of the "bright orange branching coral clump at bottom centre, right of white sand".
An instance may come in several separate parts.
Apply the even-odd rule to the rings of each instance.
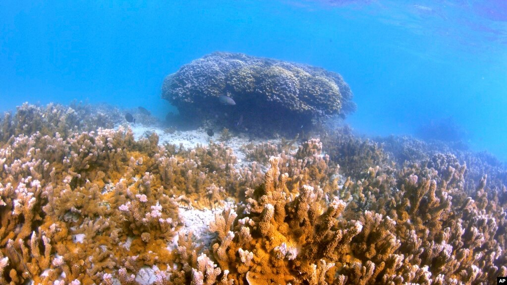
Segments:
[[[319,156],[320,146],[318,140],[308,141],[299,154]],[[280,175],[280,161],[280,157],[272,157],[264,184],[246,193],[245,212],[238,214],[225,238],[216,240],[214,258],[239,283],[245,278],[249,284],[269,280],[317,284],[324,279],[332,283],[335,278],[326,275],[331,268],[336,271],[331,261],[346,260],[349,253],[346,245],[361,231],[361,225],[357,221],[340,222],[338,218],[346,204],[336,198],[331,206],[323,206],[322,190],[303,184],[303,174],[300,174],[303,181],[286,173]],[[293,188],[299,195],[291,194],[289,189]],[[224,225],[227,217],[230,217],[227,211],[217,216],[216,224]],[[231,227],[213,225],[213,229],[224,236]]]

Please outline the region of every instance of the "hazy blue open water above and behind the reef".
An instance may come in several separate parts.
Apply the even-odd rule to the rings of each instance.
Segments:
[[[452,117],[507,160],[505,1],[0,2],[0,111],[73,99],[163,118],[163,78],[213,51],[343,75],[369,134]]]

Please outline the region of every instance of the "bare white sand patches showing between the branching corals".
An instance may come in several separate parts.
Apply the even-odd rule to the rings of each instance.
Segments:
[[[132,124],[128,127],[132,129],[136,140],[145,138],[147,134],[151,134],[153,132],[157,133],[159,136],[159,146],[165,144],[174,144],[176,146],[179,146],[181,144],[184,148],[195,148],[197,145],[207,146],[211,141],[223,143],[225,146],[230,147],[233,150],[233,153],[237,158],[237,164],[235,165],[236,169],[249,163],[245,161],[245,154],[241,150],[242,146],[251,143],[262,144],[262,142],[266,142],[266,140],[261,139],[251,140],[249,137],[246,137],[242,134],[239,136],[233,136],[227,142],[221,142],[218,140],[220,134],[215,133],[214,136],[209,136],[206,133],[206,130],[203,128],[188,131],[174,131],[172,133],[169,133],[164,129],[155,126],[152,127]],[[116,127],[116,129],[118,129],[118,127]],[[280,142],[280,139],[269,139],[269,141],[276,144]],[[263,166],[261,167],[263,168],[264,172],[267,170],[267,168],[264,168]],[[214,233],[209,232],[209,222],[214,221],[215,213],[221,213],[227,206],[231,207],[232,209],[236,207],[235,202],[233,201],[224,201],[224,206],[222,207],[215,206],[212,209],[204,210],[189,207],[188,205],[180,205],[179,216],[182,219],[184,226],[179,229],[178,233],[188,234],[189,232],[192,232],[195,243],[200,243],[205,247],[209,247],[212,239],[216,236]],[[170,250],[177,246],[177,240],[178,235],[176,234],[173,238],[172,243],[169,243],[167,245]],[[128,241],[126,244],[124,244],[124,246],[129,246]],[[139,270],[139,273],[136,275],[135,280],[143,285],[152,284],[155,282],[155,273],[157,270],[158,267],[156,265],[153,267],[144,267]]]

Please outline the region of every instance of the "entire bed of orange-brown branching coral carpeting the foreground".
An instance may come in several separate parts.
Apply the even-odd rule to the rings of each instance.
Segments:
[[[240,167],[224,144],[39,123],[0,148],[0,283],[486,284],[507,274],[505,170],[484,155],[423,150],[391,163],[382,145],[344,132],[296,151],[261,146],[250,159],[276,154],[263,171]],[[339,167],[329,154],[340,141],[366,153]],[[211,244],[179,231],[179,211],[226,199]]]

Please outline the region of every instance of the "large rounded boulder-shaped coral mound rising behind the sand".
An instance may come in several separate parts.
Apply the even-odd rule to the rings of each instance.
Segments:
[[[222,105],[223,95],[236,104]],[[257,133],[297,133],[322,118],[355,110],[352,92],[337,73],[225,52],[196,59],[167,76],[162,98],[188,120]]]

